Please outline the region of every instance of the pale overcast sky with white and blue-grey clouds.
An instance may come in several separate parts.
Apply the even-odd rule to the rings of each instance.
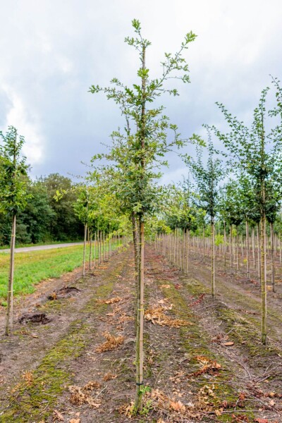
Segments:
[[[247,121],[269,74],[282,79],[281,0],[0,0],[0,13],[0,129],[25,135],[33,177],[84,173],[80,162],[123,123],[88,90],[135,78],[137,55],[124,43],[133,18],[152,42],[147,67],[156,76],[164,51],[197,34],[185,52],[191,83],[163,99],[183,137],[223,124],[216,101]],[[187,174],[180,159],[169,161],[164,182]]]

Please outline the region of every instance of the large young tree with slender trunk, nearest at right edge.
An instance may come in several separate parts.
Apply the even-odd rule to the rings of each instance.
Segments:
[[[276,104],[266,111],[266,96],[269,87],[262,90],[259,104],[255,108],[250,128],[228,113],[223,104],[218,104],[229,127],[222,133],[213,127],[214,133],[223,142],[231,155],[231,162],[240,172],[245,172],[252,181],[260,215],[260,266],[262,290],[262,343],[266,344],[266,211],[268,192],[274,192],[272,183],[282,176],[282,90],[277,79],[273,79]],[[268,120],[266,125],[266,118]],[[273,119],[272,119],[273,118]],[[271,120],[272,119],[272,120]],[[272,128],[271,127],[271,123]],[[270,128],[266,133],[266,128]]]

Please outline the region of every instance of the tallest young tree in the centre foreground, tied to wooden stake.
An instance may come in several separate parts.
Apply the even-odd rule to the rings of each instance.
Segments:
[[[190,82],[188,64],[183,58],[183,51],[190,42],[195,40],[195,34],[189,32],[176,54],[166,53],[161,62],[159,78],[149,77],[149,68],[146,65],[147,48],[150,42],[142,37],[141,26],[138,20],[133,20],[135,37],[126,37],[125,42],[137,50],[140,68],[137,71],[139,82],[133,87],[123,84],[117,78],[111,80],[110,87],[92,85],[90,92],[104,92],[108,99],[118,104],[122,116],[125,118],[124,131],[113,133],[114,145],[109,154],[102,154],[97,158],[105,157],[116,166],[119,177],[118,192],[121,200],[125,200],[133,221],[133,238],[135,243],[135,266],[137,269],[137,336],[136,336],[136,398],[135,409],[142,409],[143,393],[143,321],[144,321],[144,245],[145,245],[145,216],[155,208],[156,192],[152,182],[159,178],[160,173],[155,168],[166,164],[164,154],[173,147],[185,144],[177,133],[176,125],[168,121],[164,115],[164,106],[153,106],[161,94],[165,92],[178,95],[176,89],[165,87],[165,82],[171,78],[178,78],[183,82]],[[133,128],[133,130],[132,130]],[[174,133],[172,140],[168,140],[167,131]]]

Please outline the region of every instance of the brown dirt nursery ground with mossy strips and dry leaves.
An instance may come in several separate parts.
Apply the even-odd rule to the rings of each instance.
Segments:
[[[57,250],[58,262],[63,254]],[[133,248],[85,278],[78,268],[19,295],[14,335],[1,336],[0,422],[281,422],[280,285],[269,293],[264,346],[257,284],[217,267],[212,299],[208,260],[191,254],[183,274],[146,245],[145,387],[137,417]]]

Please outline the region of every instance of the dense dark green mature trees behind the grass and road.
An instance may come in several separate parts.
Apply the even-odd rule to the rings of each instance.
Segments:
[[[27,178],[28,201],[18,213],[16,243],[82,240],[83,223],[74,208],[78,192],[71,189],[77,184],[59,173],[36,180],[23,177]],[[67,191],[59,202],[54,199],[57,190]],[[11,216],[0,213],[0,245],[8,245],[10,240]]]

